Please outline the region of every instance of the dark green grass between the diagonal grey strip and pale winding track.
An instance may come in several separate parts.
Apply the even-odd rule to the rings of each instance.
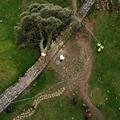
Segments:
[[[31,90],[26,93],[26,95],[21,96],[19,100],[31,98],[35,95],[37,95],[39,92],[43,92],[44,90],[48,89],[52,84],[56,83],[58,81],[57,74],[51,69],[43,72],[41,76],[38,77],[36,80],[37,82],[35,85],[31,88]],[[28,101],[22,101],[22,102],[16,102],[13,103],[13,112],[11,114],[2,113],[0,115],[0,120],[10,120],[11,117],[18,115],[21,113],[23,108],[27,108],[31,104],[32,100]]]

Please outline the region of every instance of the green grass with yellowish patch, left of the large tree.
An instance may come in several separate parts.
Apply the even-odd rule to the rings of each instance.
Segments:
[[[19,7],[16,0],[0,1],[0,93],[13,84],[37,59],[33,50],[22,50],[15,45],[14,26],[19,21]]]

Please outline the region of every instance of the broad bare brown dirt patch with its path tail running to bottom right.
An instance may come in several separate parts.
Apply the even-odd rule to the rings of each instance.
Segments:
[[[92,28],[93,22],[87,21]],[[63,54],[65,60],[59,61]],[[61,80],[66,80],[66,88],[69,91],[78,91],[83,101],[91,108],[97,120],[104,120],[102,113],[92,104],[89,98],[89,78],[93,67],[93,56],[91,48],[91,35],[84,29],[64,46],[50,64],[59,73]]]

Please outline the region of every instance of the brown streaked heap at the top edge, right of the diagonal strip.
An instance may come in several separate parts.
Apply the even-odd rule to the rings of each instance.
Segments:
[[[95,7],[98,10],[112,11],[116,6],[113,0],[96,0]]]

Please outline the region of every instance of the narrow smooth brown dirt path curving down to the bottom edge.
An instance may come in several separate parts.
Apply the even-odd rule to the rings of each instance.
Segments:
[[[92,112],[95,114],[97,120],[104,120],[104,116],[102,115],[101,111],[97,109],[97,107],[91,102],[89,98],[89,78],[92,72],[93,67],[93,56],[92,56],[92,48],[91,48],[91,41],[90,36],[89,39],[81,39],[81,44],[86,50],[87,61],[83,67],[83,71],[81,73],[81,81],[80,81],[80,95],[84,102],[91,108]]]

